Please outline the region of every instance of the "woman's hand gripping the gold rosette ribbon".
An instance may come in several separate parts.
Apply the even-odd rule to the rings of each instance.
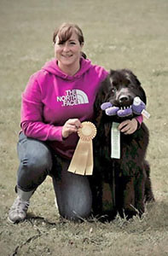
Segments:
[[[62,128],[62,137],[66,138],[73,132],[77,132],[78,128],[82,127],[79,119],[68,119]]]

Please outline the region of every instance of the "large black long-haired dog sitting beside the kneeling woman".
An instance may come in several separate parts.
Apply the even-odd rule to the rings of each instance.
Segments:
[[[154,201],[150,182],[150,168],[145,155],[148,148],[149,133],[142,123],[131,135],[120,134],[120,159],[111,158],[111,126],[124,118],[107,116],[101,110],[103,102],[111,102],[119,108],[130,107],[133,99],[139,96],[146,104],[146,95],[140,81],[127,69],[111,70],[102,82],[96,96],[95,113],[97,136],[94,139],[95,168],[90,178],[93,194],[93,212],[101,214],[102,186],[108,183],[112,190],[113,207],[111,216],[119,212],[121,217],[132,218],[144,212],[145,201]],[[132,119],[135,115],[126,117]]]

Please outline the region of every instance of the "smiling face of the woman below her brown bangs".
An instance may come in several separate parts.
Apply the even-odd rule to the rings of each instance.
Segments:
[[[59,43],[59,38],[56,37],[55,58],[59,67],[78,65],[82,48],[83,44],[79,43],[76,32],[72,32],[71,38],[63,43]]]

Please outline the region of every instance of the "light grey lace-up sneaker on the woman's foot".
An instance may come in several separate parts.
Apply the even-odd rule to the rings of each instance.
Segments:
[[[28,207],[29,201],[22,201],[18,196],[9,210],[9,222],[14,224],[23,221],[26,218]]]

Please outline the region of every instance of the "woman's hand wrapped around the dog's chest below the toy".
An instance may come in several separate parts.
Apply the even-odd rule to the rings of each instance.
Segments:
[[[119,131],[124,132],[126,135],[127,134],[132,134],[134,131],[136,131],[137,126],[138,126],[138,121],[136,119],[127,119],[123,121],[121,124],[119,124]]]

